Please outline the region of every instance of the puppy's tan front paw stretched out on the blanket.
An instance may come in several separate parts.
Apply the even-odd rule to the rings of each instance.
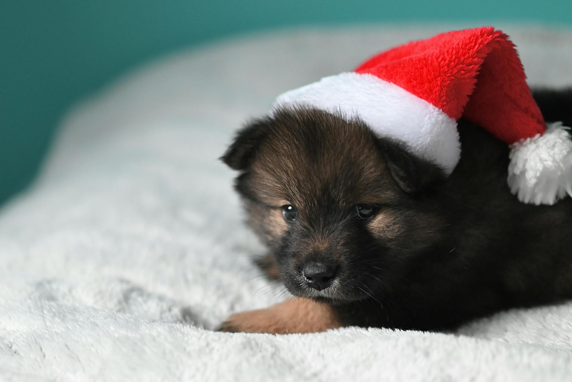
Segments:
[[[314,333],[341,327],[327,304],[293,297],[267,309],[235,313],[221,325],[223,332]]]

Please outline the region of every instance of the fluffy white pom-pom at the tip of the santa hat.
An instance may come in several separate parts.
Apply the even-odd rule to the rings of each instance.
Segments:
[[[572,139],[562,122],[511,145],[509,186],[518,200],[552,205],[572,196]]]

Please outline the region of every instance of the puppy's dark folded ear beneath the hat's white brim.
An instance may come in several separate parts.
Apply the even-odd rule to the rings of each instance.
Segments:
[[[411,154],[405,145],[384,138],[378,142],[391,177],[404,192],[419,194],[447,180],[439,166]]]

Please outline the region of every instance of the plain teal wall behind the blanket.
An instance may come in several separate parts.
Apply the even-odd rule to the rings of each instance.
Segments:
[[[0,204],[25,188],[66,108],[134,65],[292,25],[494,21],[572,25],[572,1],[0,0]]]

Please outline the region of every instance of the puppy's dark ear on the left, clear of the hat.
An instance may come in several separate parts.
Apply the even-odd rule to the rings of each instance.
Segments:
[[[233,170],[244,170],[267,136],[268,121],[258,120],[240,129],[235,140],[220,159]]]

